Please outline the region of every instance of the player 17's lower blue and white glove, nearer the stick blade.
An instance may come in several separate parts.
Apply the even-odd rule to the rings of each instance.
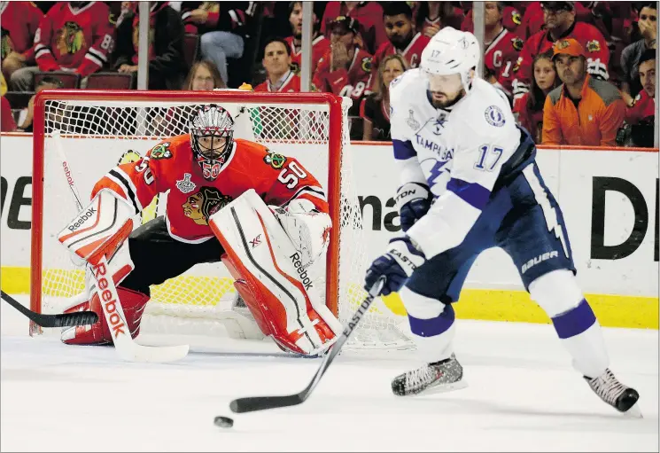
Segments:
[[[385,277],[380,295],[395,293],[424,262],[426,258],[423,253],[413,245],[408,236],[393,238],[387,252],[371,263],[367,276],[364,277],[364,287],[369,291],[378,278]]]

